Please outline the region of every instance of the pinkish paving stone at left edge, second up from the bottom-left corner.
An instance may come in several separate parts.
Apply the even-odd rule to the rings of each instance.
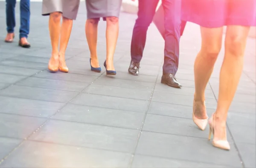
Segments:
[[[44,124],[46,120],[37,117],[0,113],[0,136],[24,139]]]

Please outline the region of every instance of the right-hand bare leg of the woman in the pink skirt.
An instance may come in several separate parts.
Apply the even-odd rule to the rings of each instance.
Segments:
[[[220,72],[219,96],[214,115],[214,139],[227,140],[227,112],[241,77],[244,50],[250,27],[227,26],[225,55]]]

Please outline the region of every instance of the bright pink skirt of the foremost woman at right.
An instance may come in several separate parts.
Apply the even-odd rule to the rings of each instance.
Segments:
[[[256,0],[182,0],[181,19],[209,28],[256,26]]]

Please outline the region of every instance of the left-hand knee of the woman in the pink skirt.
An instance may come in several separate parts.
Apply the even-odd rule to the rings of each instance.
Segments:
[[[221,51],[220,45],[205,45],[201,48],[201,55],[206,57],[209,61],[216,61],[218,54]]]

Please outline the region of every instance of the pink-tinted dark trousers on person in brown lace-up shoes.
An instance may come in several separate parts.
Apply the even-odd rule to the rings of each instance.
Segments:
[[[139,63],[143,56],[148,26],[153,20],[159,0],[139,0],[138,18],[131,40],[131,60]],[[181,0],[162,0],[164,10],[163,74],[176,74],[179,65]],[[183,29],[182,29],[183,32]]]

